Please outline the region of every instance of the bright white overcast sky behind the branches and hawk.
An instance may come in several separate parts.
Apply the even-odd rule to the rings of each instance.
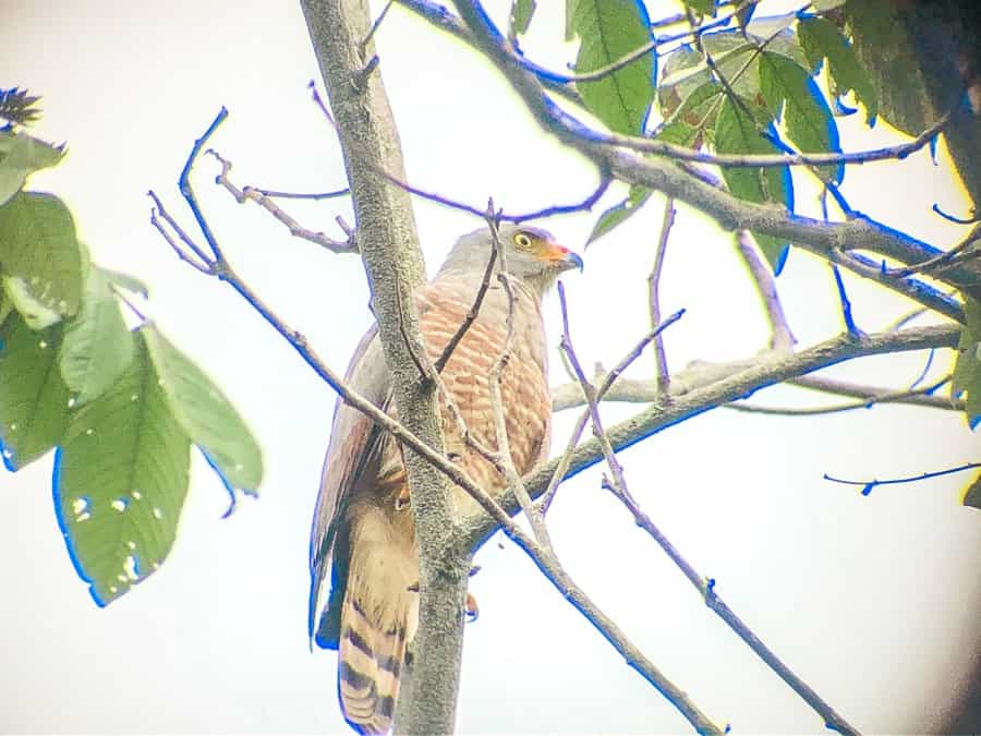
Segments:
[[[487,3],[501,19],[508,3]],[[525,46],[560,68],[562,3],[540,2]],[[651,3],[654,4],[654,3]],[[657,3],[670,12],[669,3]],[[105,610],[76,577],[56,523],[50,457],[0,475],[0,728],[8,732],[346,733],[335,655],[307,650],[307,534],[334,395],[230,289],[180,264],[148,222],[154,188],[190,226],[175,182],[191,144],[221,105],[215,145],[239,184],[291,191],[344,185],[339,148],[305,88],[318,79],[294,2],[0,0],[0,86],[44,96],[35,134],[70,153],[34,189],[71,206],[99,264],[147,280],[147,311],[233,398],[265,448],[262,497],[228,520],[227,495],[195,457],[177,545],[160,572]],[[399,8],[377,36],[410,180],[507,209],[574,201],[595,185],[584,160],[543,136],[482,59]],[[885,125],[843,121],[852,148],[887,144]],[[229,258],[335,369],[370,324],[360,261],[291,239],[254,206],[198,191]],[[960,230],[931,215],[969,204],[946,165],[923,152],[903,165],[850,169],[852,206],[948,246]],[[801,185],[802,212],[816,214]],[[610,194],[611,203],[622,192]],[[605,203],[606,204],[606,203]],[[337,232],[343,202],[290,206]],[[586,365],[619,359],[646,329],[657,197],[585,254],[565,281]],[[597,210],[598,212],[598,210]],[[429,272],[479,221],[416,203]],[[581,250],[595,218],[550,221]],[[863,329],[910,309],[847,279]],[[792,252],[779,278],[801,346],[841,328],[827,266]],[[688,310],[666,338],[675,370],[765,347],[759,301],[729,236],[680,206],[663,282],[666,312]],[[558,343],[557,305],[546,305]],[[562,383],[555,353],[553,379]],[[938,355],[933,375],[947,370]],[[924,355],[829,371],[901,386]],[[634,375],[651,375],[645,355]],[[821,397],[773,388],[770,405]],[[610,406],[608,423],[634,407]],[[566,443],[572,412],[556,421]],[[791,668],[869,733],[936,727],[965,687],[981,639],[979,512],[958,504],[965,475],[876,488],[822,480],[919,474],[977,460],[953,412],[903,407],[812,419],[724,409],[621,455],[633,495],[717,591]],[[564,563],[640,648],[719,723],[739,733],[822,731],[820,719],[701,603],[689,583],[600,488],[594,469],[564,486],[549,515]],[[458,725],[465,733],[671,733],[675,709],[630,669],[500,535],[472,582],[482,615],[467,631]]]

